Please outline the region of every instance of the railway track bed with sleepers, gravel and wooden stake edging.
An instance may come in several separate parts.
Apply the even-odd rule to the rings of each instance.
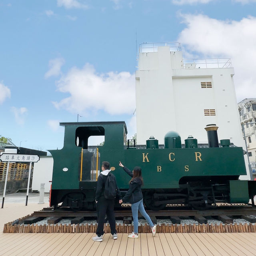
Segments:
[[[256,207],[245,205],[222,205],[211,210],[191,210],[186,206],[166,207],[165,210],[147,210],[158,232],[256,232]],[[132,232],[132,214],[128,205],[115,210],[118,233]],[[47,218],[47,219],[46,219]],[[96,211],[72,211],[69,208],[44,208],[14,222],[4,225],[5,233],[76,233],[95,232]],[[214,224],[208,222],[214,220]],[[245,222],[236,223],[236,219]],[[164,222],[161,222],[164,220]],[[186,224],[189,220],[189,224]],[[40,222],[43,222],[40,223]],[[166,222],[165,222],[166,221]],[[218,224],[216,223],[218,222]],[[246,223],[247,222],[247,223]],[[40,224],[39,224],[40,223]],[[160,224],[162,223],[162,224]],[[110,232],[106,224],[105,232]],[[150,233],[148,224],[139,226],[139,232]]]

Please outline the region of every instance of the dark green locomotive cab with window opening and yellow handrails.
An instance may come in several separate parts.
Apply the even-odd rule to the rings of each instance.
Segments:
[[[125,122],[60,123],[65,127],[64,146],[49,150],[54,158],[51,206],[74,209],[95,207],[95,190],[103,160],[114,162],[113,151],[124,149]],[[100,136],[99,145],[90,149],[88,140]],[[121,138],[121,139],[120,139]]]

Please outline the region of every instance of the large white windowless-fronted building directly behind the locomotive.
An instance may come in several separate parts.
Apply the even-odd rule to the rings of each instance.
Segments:
[[[137,143],[168,131],[207,143],[204,128],[245,149],[230,59],[184,60],[179,43],[141,44],[136,71]],[[247,164],[248,166],[248,164]],[[249,176],[248,176],[249,178]]]

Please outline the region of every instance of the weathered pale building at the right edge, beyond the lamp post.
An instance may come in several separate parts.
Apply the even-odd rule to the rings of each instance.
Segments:
[[[253,172],[256,171],[256,98],[244,99],[238,103],[240,121],[244,127],[248,156]]]

